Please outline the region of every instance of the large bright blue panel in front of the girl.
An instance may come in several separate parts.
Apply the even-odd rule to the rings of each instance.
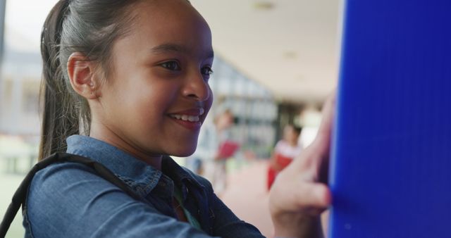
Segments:
[[[348,0],[330,238],[451,237],[451,1]]]

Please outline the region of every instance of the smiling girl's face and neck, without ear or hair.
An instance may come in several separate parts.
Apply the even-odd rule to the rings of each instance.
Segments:
[[[213,101],[209,26],[184,0],[142,1],[133,13],[113,45],[91,135],[144,160],[189,156]]]

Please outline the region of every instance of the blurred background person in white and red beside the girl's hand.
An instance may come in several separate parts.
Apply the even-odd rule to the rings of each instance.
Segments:
[[[291,161],[302,152],[302,144],[299,143],[301,127],[286,125],[283,129],[283,138],[274,147],[273,155],[268,166],[267,188],[271,189],[277,174],[287,167]]]

